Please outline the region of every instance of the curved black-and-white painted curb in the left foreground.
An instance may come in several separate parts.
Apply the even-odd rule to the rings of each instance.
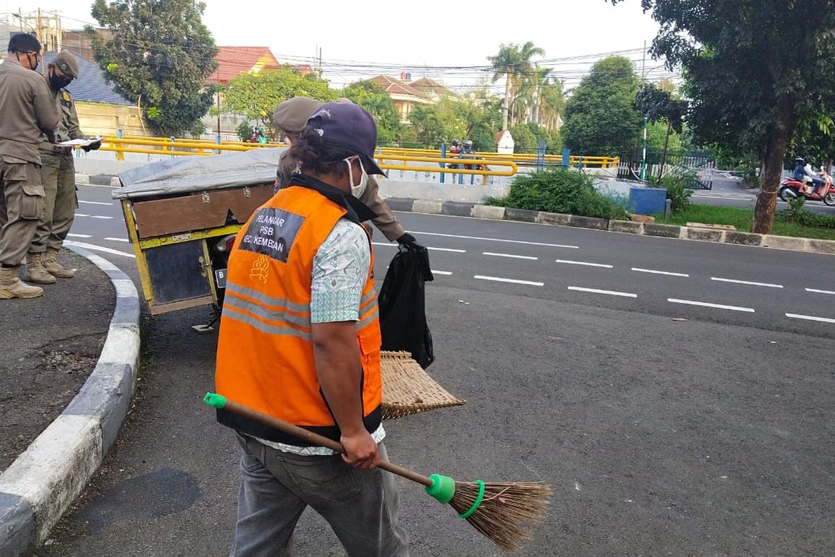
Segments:
[[[0,474],[0,557],[43,544],[113,446],[136,387],[139,295],[109,261],[73,247],[109,277],[116,307],[99,362],[58,418]]]

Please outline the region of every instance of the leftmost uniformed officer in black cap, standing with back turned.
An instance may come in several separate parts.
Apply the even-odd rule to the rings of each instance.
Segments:
[[[42,134],[54,138],[58,113],[38,68],[41,43],[18,33],[0,64],[0,300],[34,298],[43,289],[18,278],[18,268],[43,217]]]

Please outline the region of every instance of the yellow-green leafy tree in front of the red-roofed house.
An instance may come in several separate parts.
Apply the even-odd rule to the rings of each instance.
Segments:
[[[268,135],[274,139],[276,129],[272,112],[279,103],[293,97],[330,101],[337,98],[337,92],[315,73],[302,75],[296,68],[281,66],[231,78],[223,94],[226,110],[255,120],[266,127]]]

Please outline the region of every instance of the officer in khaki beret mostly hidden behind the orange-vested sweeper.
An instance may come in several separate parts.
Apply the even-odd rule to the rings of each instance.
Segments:
[[[337,99],[337,103],[351,103],[348,99]],[[272,114],[276,127],[286,134],[288,143],[299,137],[301,129],[305,127],[307,119],[316,109],[321,106],[321,101],[309,97],[293,97],[276,106]],[[290,175],[297,172],[298,162],[290,156],[290,149],[286,149],[279,155],[278,172],[276,173],[276,189],[283,187],[290,181]],[[377,213],[372,222],[386,236],[388,241],[397,241],[402,246],[417,247],[415,237],[403,230],[402,225],[397,222],[397,217],[392,213],[391,208],[380,197],[380,185],[373,176],[368,177],[368,186],[362,194],[362,202],[368,208]]]

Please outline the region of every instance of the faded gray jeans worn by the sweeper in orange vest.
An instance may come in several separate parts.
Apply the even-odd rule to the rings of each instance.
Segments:
[[[230,557],[289,557],[307,505],[331,524],[349,557],[408,557],[392,474],[353,468],[339,455],[301,456],[238,440],[243,455]],[[382,443],[380,456],[387,459]]]

